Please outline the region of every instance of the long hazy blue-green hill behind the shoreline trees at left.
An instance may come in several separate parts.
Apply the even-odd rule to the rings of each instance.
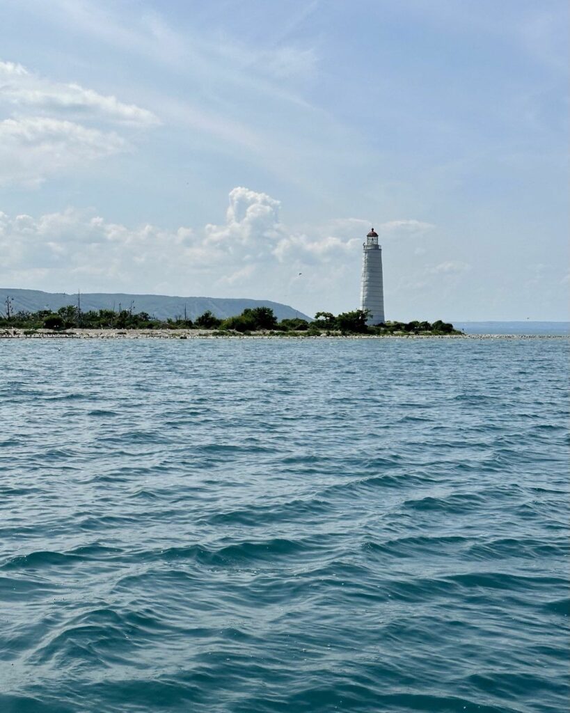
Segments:
[[[14,300],[14,312],[38,312],[40,309],[57,310],[68,304],[77,304],[77,294],[66,292],[41,292],[39,289],[4,289],[0,287],[0,312],[5,312],[6,297]],[[135,312],[148,312],[151,317],[167,319],[186,314],[195,319],[209,309],[216,317],[224,319],[234,314],[241,314],[246,307],[271,307],[277,319],[301,317],[306,314],[289,307],[288,304],[271,302],[269,299],[229,299],[226,297],[170,297],[166,294],[124,294],[122,292],[86,292],[81,294],[81,309],[129,309],[133,304]]]

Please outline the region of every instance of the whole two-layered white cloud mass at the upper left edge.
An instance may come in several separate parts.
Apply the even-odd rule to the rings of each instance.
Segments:
[[[150,111],[78,84],[53,83],[0,62],[0,185],[30,187],[48,176],[132,148],[125,129],[147,129]],[[118,133],[120,130],[120,133]]]

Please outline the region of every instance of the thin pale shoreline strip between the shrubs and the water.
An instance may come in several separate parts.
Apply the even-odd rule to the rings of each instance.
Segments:
[[[0,339],[570,339],[570,334],[220,334],[209,329],[0,329]]]

